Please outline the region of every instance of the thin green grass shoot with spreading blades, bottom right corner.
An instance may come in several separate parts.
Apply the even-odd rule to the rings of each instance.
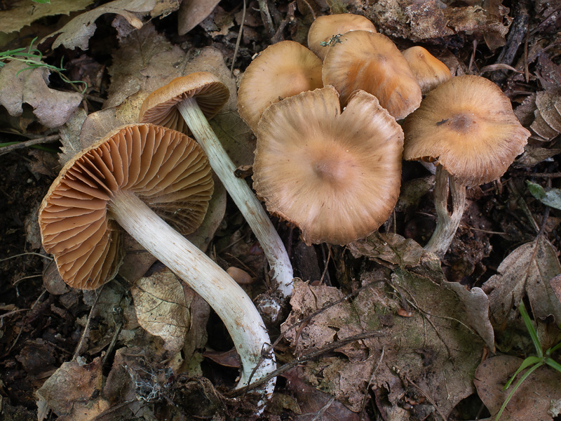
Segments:
[[[520,307],[518,308],[520,309],[520,315],[522,316],[522,320],[524,320],[524,324],[526,325],[528,333],[530,334],[530,338],[532,338],[532,343],[534,344],[534,348],[536,349],[537,355],[529,356],[524,361],[522,361],[522,364],[520,364],[518,370],[515,371],[513,377],[511,377],[511,379],[508,380],[508,382],[506,382],[506,385],[504,385],[503,390],[508,389],[509,387],[511,387],[516,377],[520,373],[524,372],[520,376],[520,379],[518,379],[518,382],[516,382],[514,387],[511,389],[511,392],[508,394],[508,396],[506,396],[506,399],[503,402],[501,409],[496,414],[495,421],[499,421],[499,418],[503,414],[503,410],[508,405],[508,402],[511,401],[518,387],[520,387],[520,385],[522,385],[522,382],[524,382],[524,380],[526,380],[527,377],[529,377],[529,375],[534,373],[535,370],[537,370],[544,364],[547,364],[548,366],[555,368],[555,370],[561,373],[561,364],[557,363],[557,361],[551,358],[551,354],[557,351],[557,349],[561,348],[561,342],[555,345],[555,347],[551,347],[547,349],[544,354],[541,348],[541,343],[539,342],[538,339],[538,334],[536,333],[536,329],[534,328],[534,325],[532,324],[532,320],[530,320],[528,313],[526,312],[526,307],[524,306],[524,302],[521,301]]]

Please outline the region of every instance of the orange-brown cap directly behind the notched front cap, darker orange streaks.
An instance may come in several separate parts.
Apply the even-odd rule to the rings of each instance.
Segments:
[[[421,88],[407,60],[387,36],[366,31],[347,32],[323,60],[323,84],[334,86],[346,105],[362,89],[378,98],[396,119],[403,119],[421,103]]]

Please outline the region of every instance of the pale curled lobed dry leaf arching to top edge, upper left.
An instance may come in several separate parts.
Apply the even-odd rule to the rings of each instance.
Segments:
[[[93,36],[97,27],[95,20],[101,15],[105,13],[121,15],[130,25],[140,29],[142,20],[137,13],[149,13],[154,6],[156,6],[156,0],[114,0],[86,13],[81,13],[62,28],[43,38],[41,42],[51,36],[56,36],[53,48],[62,45],[70,50],[74,50],[76,47],[87,50],[90,37]]]

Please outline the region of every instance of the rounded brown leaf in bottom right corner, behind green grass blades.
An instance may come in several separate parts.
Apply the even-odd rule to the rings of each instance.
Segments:
[[[491,419],[511,392],[513,386],[506,391],[503,387],[521,363],[522,359],[515,356],[494,356],[483,361],[475,372],[475,387],[489,409]],[[561,373],[549,366],[538,368],[518,387],[501,415],[501,421],[552,421],[557,413],[552,413],[551,408],[561,404],[560,382]]]

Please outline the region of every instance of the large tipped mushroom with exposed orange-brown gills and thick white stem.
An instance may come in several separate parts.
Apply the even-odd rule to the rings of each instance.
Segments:
[[[41,203],[39,226],[62,279],[93,289],[119,266],[120,225],[215,309],[241,358],[242,387],[276,366],[272,352],[259,363],[270,343],[261,316],[224,270],[162,219],[194,229],[212,187],[208,160],[194,140],[168,128],[133,124],[62,168]],[[273,387],[271,380],[263,392],[270,395]]]

